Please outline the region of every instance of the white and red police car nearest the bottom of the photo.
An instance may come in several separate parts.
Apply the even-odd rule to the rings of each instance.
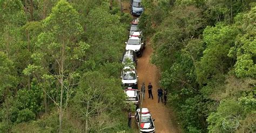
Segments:
[[[154,120],[152,120],[152,116],[150,114],[149,109],[142,108],[142,118],[140,119],[140,108],[138,108],[135,112],[135,120],[138,124],[140,132],[155,132]],[[140,121],[140,122],[139,122]],[[140,123],[140,125],[139,125]]]

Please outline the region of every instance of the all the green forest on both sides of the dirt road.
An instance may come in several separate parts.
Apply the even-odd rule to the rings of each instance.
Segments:
[[[129,0],[0,0],[0,132],[134,132]],[[256,132],[256,2],[143,0],[139,28],[183,132]]]

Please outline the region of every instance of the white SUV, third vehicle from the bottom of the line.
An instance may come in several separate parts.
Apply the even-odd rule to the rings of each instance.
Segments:
[[[134,67],[124,67],[121,72],[122,85],[125,87],[133,87],[138,89],[138,76]]]

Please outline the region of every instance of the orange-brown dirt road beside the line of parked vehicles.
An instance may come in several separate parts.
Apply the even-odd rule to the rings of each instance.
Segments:
[[[147,45],[143,51],[143,56],[138,58],[137,72],[139,76],[139,90],[142,83],[146,84],[145,100],[143,100],[143,106],[150,109],[154,124],[156,125],[156,132],[181,132],[179,125],[174,121],[173,112],[170,108],[167,108],[161,101],[158,103],[157,89],[159,81],[159,71],[157,67],[150,63],[150,56],[152,54],[152,48]],[[153,100],[149,99],[149,93],[147,92],[147,85],[151,82],[153,86]],[[133,122],[134,124],[134,122]],[[133,127],[137,127],[134,125]]]

